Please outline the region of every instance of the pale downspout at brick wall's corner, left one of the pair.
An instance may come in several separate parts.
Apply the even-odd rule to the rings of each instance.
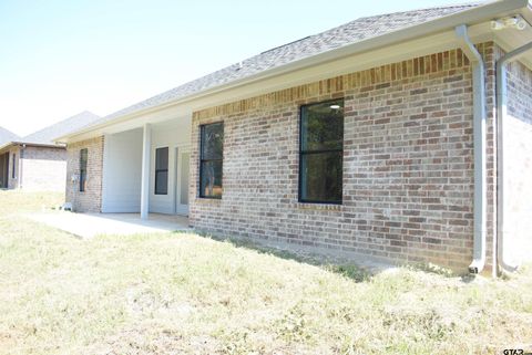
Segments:
[[[474,237],[473,261],[469,272],[482,272],[485,265],[487,233],[487,187],[485,187],[485,79],[484,62],[479,51],[469,39],[468,28],[461,24],[456,28],[460,48],[472,65],[473,74],[473,150],[474,150]]]

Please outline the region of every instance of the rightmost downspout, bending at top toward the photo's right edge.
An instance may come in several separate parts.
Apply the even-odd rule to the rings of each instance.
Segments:
[[[497,62],[497,239],[494,243],[493,272],[497,274],[497,267],[502,271],[515,271],[516,264],[507,261],[504,255],[504,149],[503,149],[503,128],[504,121],[508,117],[508,97],[507,97],[507,64],[532,49],[532,42],[520,46]]]

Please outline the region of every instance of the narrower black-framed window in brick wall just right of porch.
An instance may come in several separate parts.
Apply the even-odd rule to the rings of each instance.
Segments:
[[[200,197],[222,198],[224,123],[201,126]]]

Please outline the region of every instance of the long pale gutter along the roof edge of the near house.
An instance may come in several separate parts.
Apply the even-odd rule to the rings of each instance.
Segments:
[[[273,69],[268,69],[256,74],[245,76],[235,81],[231,81],[226,84],[221,84],[218,86],[207,88],[205,91],[197,92],[195,94],[191,94],[188,96],[178,97],[171,100],[165,103],[161,103],[156,106],[150,106],[146,108],[141,108],[139,111],[134,111],[131,113],[125,113],[124,115],[120,115],[113,117],[112,119],[102,122],[100,124],[91,125],[84,129],[80,129],[78,132],[70,133],[68,135],[61,136],[55,138],[55,142],[59,143],[66,143],[69,138],[74,137],[76,135],[81,135],[84,133],[90,133],[92,130],[103,128],[105,126],[121,123],[127,119],[131,119],[136,116],[145,115],[155,111],[160,111],[170,106],[174,106],[177,104],[188,103],[195,101],[200,97],[209,96],[219,92],[224,92],[231,88],[235,88],[238,86],[243,86],[249,83],[258,82],[268,77],[274,77],[278,75],[283,75],[298,69],[304,69],[321,63],[326,63],[332,60],[337,60],[340,58],[368,52],[375,50],[377,48],[385,48],[387,45],[403,42],[411,40],[413,38],[428,35],[431,33],[438,33],[448,29],[452,29],[457,25],[462,23],[480,23],[482,21],[491,20],[495,15],[503,15],[505,13],[511,13],[512,11],[525,8],[528,6],[528,0],[501,0],[501,1],[492,1],[487,4],[482,4],[477,8],[472,8],[470,10],[464,10],[454,14],[450,14],[443,18],[439,18],[429,22],[424,22],[421,24],[412,25],[406,29],[401,29],[391,33],[385,33],[382,35],[378,35],[375,38],[370,38],[367,40],[362,40],[360,42],[351,43],[348,45],[340,46],[335,50],[330,50],[327,52],[323,52],[309,58],[305,58],[301,60],[297,60],[280,66],[276,66]]]

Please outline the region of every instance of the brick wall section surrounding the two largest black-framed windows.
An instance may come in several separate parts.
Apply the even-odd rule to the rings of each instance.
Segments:
[[[479,48],[492,55],[491,43]],[[332,97],[346,105],[344,203],[299,203],[299,106]],[[200,199],[198,126],[217,121],[224,196]],[[192,147],[198,229],[463,270],[471,262],[472,87],[460,50],[196,112]]]

